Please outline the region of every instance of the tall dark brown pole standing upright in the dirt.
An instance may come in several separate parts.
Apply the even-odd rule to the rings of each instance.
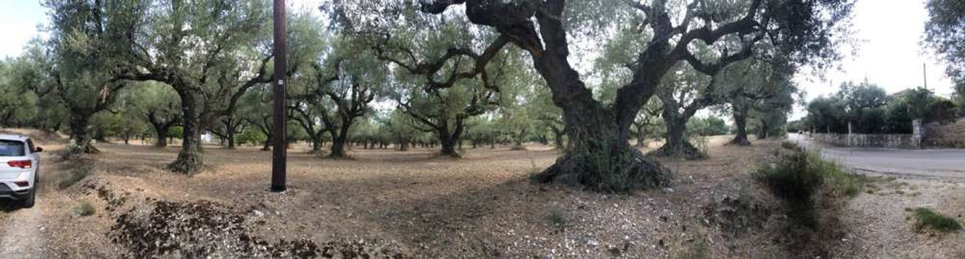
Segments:
[[[275,133],[272,136],[275,138],[274,148],[272,149],[271,156],[271,192],[284,192],[285,191],[285,168],[287,162],[287,151],[286,150],[286,122],[287,111],[285,102],[285,83],[287,81],[286,73],[288,62],[285,60],[285,56],[288,51],[286,50],[286,31],[285,31],[285,0],[275,0],[275,88],[274,88],[274,119],[275,119]]]

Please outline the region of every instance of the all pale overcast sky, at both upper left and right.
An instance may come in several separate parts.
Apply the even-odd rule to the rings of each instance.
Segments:
[[[312,0],[290,0],[298,8],[317,4]],[[0,57],[19,56],[27,41],[41,34],[38,25],[46,22],[46,11],[39,0],[0,0]],[[943,96],[952,92],[951,81],[943,73],[945,65],[924,51],[923,38],[927,12],[924,0],[863,0],[854,10],[853,30],[857,50],[848,53],[841,70],[825,71],[825,80],[800,75],[795,78],[810,100],[837,91],[843,81],[863,81],[896,92],[923,85],[922,65],[927,70],[928,88]],[[803,117],[800,109],[793,117]]]

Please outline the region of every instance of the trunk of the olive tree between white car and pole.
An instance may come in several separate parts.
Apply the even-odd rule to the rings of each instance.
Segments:
[[[181,134],[181,149],[178,159],[168,165],[168,169],[184,174],[194,174],[204,166],[201,154],[200,111],[198,111],[197,96],[190,91],[178,91],[181,99],[184,128]]]

